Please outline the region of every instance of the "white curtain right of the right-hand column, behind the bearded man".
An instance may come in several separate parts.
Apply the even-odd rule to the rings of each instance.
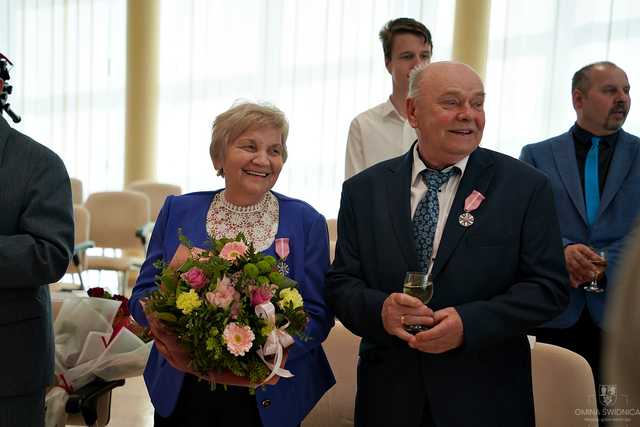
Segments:
[[[492,0],[483,146],[518,156],[523,145],[575,122],[571,77],[609,60],[640,84],[637,0]],[[632,90],[633,94],[633,90]],[[624,126],[640,133],[632,108]]]

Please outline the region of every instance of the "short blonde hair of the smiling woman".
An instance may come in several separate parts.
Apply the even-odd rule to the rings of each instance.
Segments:
[[[219,114],[213,121],[209,155],[214,167],[217,162],[224,160],[229,142],[248,130],[263,128],[275,128],[282,133],[282,161],[286,162],[289,122],[284,113],[271,104],[243,101]],[[222,168],[218,169],[218,175],[223,174]]]

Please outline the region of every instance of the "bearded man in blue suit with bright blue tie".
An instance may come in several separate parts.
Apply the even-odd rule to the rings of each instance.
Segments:
[[[640,212],[640,140],[622,130],[631,98],[627,75],[618,66],[597,62],[581,68],[571,94],[573,127],[525,146],[520,156],[551,180],[572,286],[567,310],[535,333],[540,341],[584,356],[597,383],[605,303]],[[607,253],[600,280],[605,290],[588,292],[582,285],[592,280],[600,250]]]

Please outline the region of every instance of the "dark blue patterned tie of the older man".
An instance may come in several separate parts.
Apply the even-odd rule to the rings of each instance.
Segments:
[[[413,215],[413,236],[416,241],[416,255],[418,256],[418,269],[427,272],[433,251],[433,238],[438,224],[438,191],[440,187],[457,174],[459,169],[454,167],[447,172],[439,172],[425,169],[420,172],[422,179],[427,184],[427,192],[424,194],[416,213]]]

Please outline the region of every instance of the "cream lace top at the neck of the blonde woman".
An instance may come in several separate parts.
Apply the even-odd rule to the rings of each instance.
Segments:
[[[243,233],[256,251],[268,249],[278,232],[280,205],[270,191],[252,206],[236,206],[224,197],[224,190],[213,197],[207,213],[207,234],[214,239],[234,238]]]

